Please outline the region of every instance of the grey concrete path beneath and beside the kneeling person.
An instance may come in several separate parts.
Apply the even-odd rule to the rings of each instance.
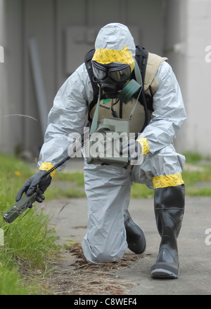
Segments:
[[[46,202],[45,212],[60,243],[82,242],[87,229],[87,199],[60,199]],[[155,226],[153,199],[132,199],[129,212],[141,225],[147,247],[142,258],[115,272],[122,280],[134,282],[131,295],[210,295],[211,294],[211,198],[186,197],[186,210],[178,239],[180,275],[177,280],[155,280],[151,265],[158,255],[160,236]],[[207,234],[206,234],[207,233]],[[128,252],[129,251],[128,249]]]

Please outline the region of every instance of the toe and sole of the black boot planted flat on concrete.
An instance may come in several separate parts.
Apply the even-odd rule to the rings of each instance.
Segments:
[[[151,277],[160,279],[177,279],[179,277],[179,265],[178,268],[174,268],[173,265],[167,263],[155,263],[151,268]]]

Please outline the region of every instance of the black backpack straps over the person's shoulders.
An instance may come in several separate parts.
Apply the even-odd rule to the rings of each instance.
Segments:
[[[85,55],[85,58],[84,58],[84,63],[87,67],[87,72],[89,74],[91,85],[94,91],[94,99],[89,104],[89,112],[92,110],[92,108],[96,105],[98,101],[98,84],[96,81],[94,81],[94,73],[93,73],[92,65],[91,65],[91,59],[93,58],[94,53],[95,53],[95,49],[91,49],[91,51],[89,51]],[[145,73],[146,73],[147,60],[148,60],[148,51],[142,46],[136,46],[136,62],[138,63],[139,69],[141,71],[143,85],[144,85],[144,79],[145,79]],[[134,71],[132,72],[132,79],[135,79]],[[139,98],[140,104],[143,105],[145,115],[146,115],[141,132],[148,124],[148,110],[153,111],[153,93],[151,92],[151,88],[149,90],[150,90],[151,96],[148,96],[144,93],[144,87],[143,87],[141,91],[141,96]],[[91,122],[91,120],[92,119],[90,118],[90,115],[89,115],[89,121]]]

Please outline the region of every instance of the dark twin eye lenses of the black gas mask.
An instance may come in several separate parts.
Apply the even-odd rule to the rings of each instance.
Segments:
[[[131,75],[130,65],[124,65],[122,63],[109,63],[108,65],[101,65],[92,61],[92,67],[94,76],[99,81],[110,78],[116,83],[127,81]]]

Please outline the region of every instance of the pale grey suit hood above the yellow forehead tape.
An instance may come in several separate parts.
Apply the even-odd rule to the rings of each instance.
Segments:
[[[95,41],[96,49],[108,48],[122,50],[124,46],[127,46],[132,53],[132,57],[135,58],[136,46],[134,44],[134,38],[127,26],[113,22],[101,28],[98,32]]]

